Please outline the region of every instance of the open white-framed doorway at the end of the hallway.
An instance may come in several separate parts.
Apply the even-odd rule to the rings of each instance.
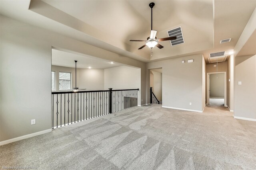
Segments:
[[[206,104],[227,107],[226,97],[226,72],[208,72]]]

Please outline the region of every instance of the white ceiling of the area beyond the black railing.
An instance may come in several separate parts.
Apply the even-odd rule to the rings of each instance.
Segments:
[[[78,61],[76,64],[74,62],[75,60]],[[111,61],[104,61],[95,57],[77,55],[56,49],[52,49],[52,65],[72,68],[76,66],[77,68],[90,67],[102,69],[121,66],[121,64],[118,63],[111,63]]]

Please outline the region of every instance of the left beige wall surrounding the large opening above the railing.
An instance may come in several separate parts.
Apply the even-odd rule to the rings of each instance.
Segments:
[[[51,129],[52,47],[141,68],[145,103],[145,63],[2,15],[0,20],[0,141]]]

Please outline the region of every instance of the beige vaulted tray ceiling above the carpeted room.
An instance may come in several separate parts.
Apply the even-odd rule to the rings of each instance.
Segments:
[[[160,42],[151,56],[148,47],[138,50],[144,42],[129,41],[149,37],[150,2],[156,37],[181,26],[184,44]],[[208,63],[209,53],[234,49],[255,7],[252,0],[2,0],[1,14],[144,62],[203,54]]]

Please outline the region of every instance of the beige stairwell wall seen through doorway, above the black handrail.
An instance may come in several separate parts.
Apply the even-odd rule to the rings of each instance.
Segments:
[[[162,73],[152,71],[154,75],[154,87],[153,92],[156,95],[156,98],[161,102],[162,101]]]

